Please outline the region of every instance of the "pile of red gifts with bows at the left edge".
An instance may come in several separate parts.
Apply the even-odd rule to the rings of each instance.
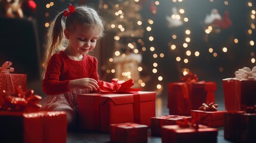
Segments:
[[[66,142],[66,113],[38,111],[41,97],[26,91],[27,75],[11,64],[0,67],[0,142]]]

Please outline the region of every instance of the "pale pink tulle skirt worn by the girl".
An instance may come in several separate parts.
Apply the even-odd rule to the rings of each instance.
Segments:
[[[42,107],[39,109],[41,111],[55,111],[56,108],[64,107],[78,111],[78,94],[88,94],[89,89],[73,89],[70,92],[59,95],[48,95],[45,97],[40,104]]]

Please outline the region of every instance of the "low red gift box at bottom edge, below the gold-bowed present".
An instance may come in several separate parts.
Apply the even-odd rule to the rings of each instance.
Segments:
[[[162,126],[162,143],[169,142],[217,142],[218,130],[199,125],[199,129],[181,128],[179,125]]]

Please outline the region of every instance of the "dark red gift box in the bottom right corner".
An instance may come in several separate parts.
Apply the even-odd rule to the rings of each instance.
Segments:
[[[224,138],[235,142],[256,142],[256,113],[228,111],[224,114]]]

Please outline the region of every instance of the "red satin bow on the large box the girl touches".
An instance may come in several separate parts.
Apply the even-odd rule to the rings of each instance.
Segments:
[[[112,93],[137,93],[141,89],[131,88],[134,85],[132,79],[127,81],[112,79],[111,82],[98,82],[98,91],[102,94],[112,94]]]

